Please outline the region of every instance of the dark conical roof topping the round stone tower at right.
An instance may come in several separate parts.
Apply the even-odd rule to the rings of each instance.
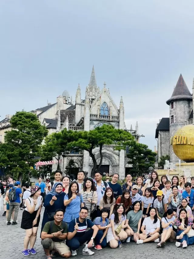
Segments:
[[[176,83],[176,87],[172,93],[172,96],[170,97],[169,100],[166,101],[166,103],[170,104],[172,101],[175,101],[177,99],[192,100],[191,93],[185,83],[185,80],[182,77],[182,74],[180,74],[179,76],[179,80]]]

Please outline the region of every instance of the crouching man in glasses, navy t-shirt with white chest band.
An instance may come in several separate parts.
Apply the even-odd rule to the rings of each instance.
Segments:
[[[72,256],[77,255],[76,250],[86,241],[87,244],[82,250],[82,254],[94,254],[89,248],[93,246],[94,239],[97,239],[96,241],[98,242],[102,237],[101,233],[98,234],[98,227],[91,220],[87,219],[87,216],[88,208],[82,207],[79,218],[73,219],[69,223],[66,244],[72,250]],[[90,230],[86,232],[87,228],[90,228]]]

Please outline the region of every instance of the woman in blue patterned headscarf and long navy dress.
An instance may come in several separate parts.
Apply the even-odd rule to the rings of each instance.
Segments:
[[[63,186],[61,182],[56,182],[53,185],[52,190],[46,195],[44,202],[45,211],[42,219],[41,232],[45,226],[45,223],[54,220],[55,210],[62,209],[65,211],[65,206],[63,203],[65,195],[66,193],[63,192]]]

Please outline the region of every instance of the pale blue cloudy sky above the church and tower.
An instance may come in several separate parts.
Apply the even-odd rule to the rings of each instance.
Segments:
[[[63,90],[82,99],[92,65],[125,124],[154,149],[156,124],[180,73],[192,90],[192,0],[1,0],[0,119],[56,102]]]

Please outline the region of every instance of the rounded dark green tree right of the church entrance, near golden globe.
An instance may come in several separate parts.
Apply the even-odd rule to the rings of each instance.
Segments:
[[[129,147],[127,157],[129,158],[129,164],[133,165],[130,172],[134,175],[142,175],[147,172],[150,166],[154,165],[156,153],[145,144],[134,143]]]

